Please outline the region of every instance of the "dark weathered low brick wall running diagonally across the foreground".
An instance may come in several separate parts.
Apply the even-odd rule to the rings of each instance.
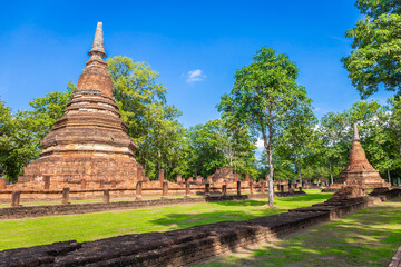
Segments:
[[[187,266],[257,243],[273,241],[309,226],[400,196],[326,201],[247,221],[224,221],[167,233],[126,235],[97,241],[75,240],[0,253],[0,266]]]

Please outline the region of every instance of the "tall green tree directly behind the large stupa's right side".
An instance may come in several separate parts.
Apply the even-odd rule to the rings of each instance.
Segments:
[[[137,160],[149,177],[156,178],[164,168],[172,178],[182,171],[184,164],[184,158],[178,156],[185,154],[185,130],[177,120],[182,112],[167,105],[167,89],[148,63],[121,56],[109,58],[107,63],[121,119],[138,145]]]

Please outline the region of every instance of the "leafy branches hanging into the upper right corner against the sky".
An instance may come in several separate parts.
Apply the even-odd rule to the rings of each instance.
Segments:
[[[353,86],[368,98],[380,86],[401,93],[401,2],[358,0],[365,14],[346,37],[353,38],[352,52],[342,59]]]

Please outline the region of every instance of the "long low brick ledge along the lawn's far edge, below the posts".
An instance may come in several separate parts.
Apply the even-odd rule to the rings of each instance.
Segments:
[[[305,194],[303,191],[296,191],[293,194],[277,192],[276,196],[295,196]],[[246,200],[246,199],[260,199],[268,198],[267,194],[256,195],[242,195],[242,196],[211,196],[206,198],[165,198],[154,200],[140,200],[140,201],[117,201],[117,202],[92,202],[92,204],[70,204],[70,205],[42,205],[42,206],[19,206],[0,208],[0,219],[20,219],[28,217],[42,217],[53,215],[74,215],[74,214],[90,214],[100,212],[107,210],[118,209],[138,209],[148,208],[155,206],[173,206],[184,204],[198,204],[198,202],[218,202],[229,200]]]

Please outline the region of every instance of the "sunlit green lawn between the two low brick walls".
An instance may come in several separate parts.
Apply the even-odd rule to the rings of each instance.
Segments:
[[[267,199],[154,207],[115,212],[53,216],[0,221],[0,250],[51,244],[89,241],[127,234],[167,231],[224,220],[247,220],[322,202],[331,194],[307,190],[307,195]]]

